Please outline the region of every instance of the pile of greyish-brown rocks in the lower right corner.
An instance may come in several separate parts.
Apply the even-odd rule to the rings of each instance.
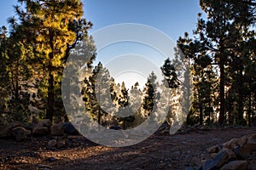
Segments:
[[[247,170],[256,169],[256,133],[241,139],[215,145],[207,149],[211,159],[204,161],[197,169],[203,170]]]

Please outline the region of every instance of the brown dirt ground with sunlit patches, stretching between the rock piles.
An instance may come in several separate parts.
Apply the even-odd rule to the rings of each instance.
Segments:
[[[252,128],[214,129],[160,136],[140,144],[110,148],[82,136],[30,137],[26,142],[0,139],[0,169],[185,169],[209,158],[207,148],[243,135]],[[50,139],[62,140],[61,149],[47,149]]]

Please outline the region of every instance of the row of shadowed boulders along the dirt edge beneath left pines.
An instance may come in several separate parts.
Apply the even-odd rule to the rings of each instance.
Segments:
[[[1,139],[15,138],[16,141],[26,140],[30,136],[61,136],[64,134],[77,135],[79,132],[70,122],[52,124],[49,119],[28,126],[24,126],[21,122],[11,122],[0,126]]]

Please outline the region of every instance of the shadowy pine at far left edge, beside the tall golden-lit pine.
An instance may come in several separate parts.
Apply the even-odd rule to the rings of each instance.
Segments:
[[[4,80],[3,94],[9,99],[7,104],[3,103],[5,110],[9,113],[8,121],[26,122],[30,116],[30,94],[27,89],[31,84],[26,83],[32,78],[30,60],[33,58],[32,46],[22,38],[21,27],[17,26],[15,19],[10,18],[11,31],[9,37],[3,34],[1,59],[3,61],[1,69]],[[3,31],[6,29],[3,28]],[[5,32],[6,33],[6,32]],[[1,81],[1,82],[2,82]],[[4,101],[3,100],[3,101]]]

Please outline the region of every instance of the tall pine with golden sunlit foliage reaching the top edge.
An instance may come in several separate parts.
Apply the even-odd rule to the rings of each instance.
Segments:
[[[88,28],[81,20],[83,6],[79,0],[22,0],[20,3],[25,7],[22,10],[16,6],[20,25],[24,26],[24,35],[33,42],[38,53],[34,59],[35,69],[44,77],[40,80],[39,86],[43,89],[40,89],[39,97],[46,98],[46,118],[52,120],[65,61]]]

